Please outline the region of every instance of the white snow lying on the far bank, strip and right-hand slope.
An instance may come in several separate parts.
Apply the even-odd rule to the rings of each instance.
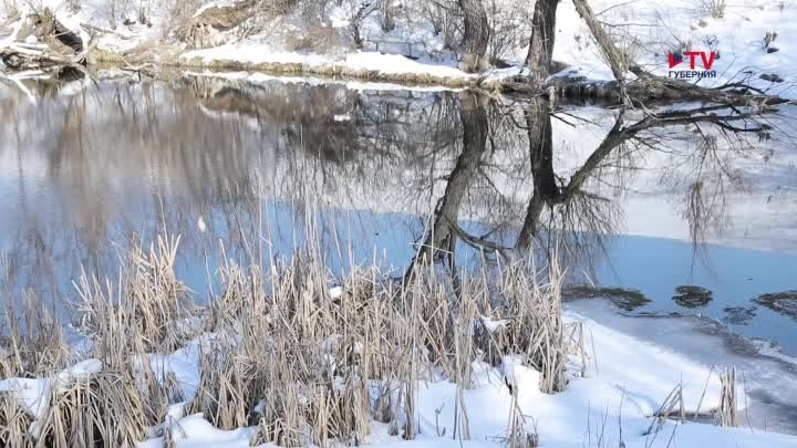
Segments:
[[[726,6],[722,19],[706,17],[701,8],[689,0],[675,0],[666,4],[651,2],[624,2],[620,0],[593,0],[593,10],[601,20],[610,23],[624,24],[619,27],[623,40],[634,42],[634,60],[645,70],[655,74],[667,75],[667,52],[681,48],[695,51],[718,51],[720,59],[713,66],[717,71],[716,79],[703,79],[703,85],[721,85],[729,81],[749,77],[753,85],[772,88],[775,93],[787,94],[789,82],[795,81],[793,73],[797,69],[797,55],[790,51],[790,41],[797,35],[797,6],[788,2],[765,0],[747,0]],[[341,7],[345,9],[344,7]],[[332,25],[345,28],[351,11],[334,8],[331,12]],[[516,75],[520,70],[495,69],[479,76],[467,74],[456,69],[452,59],[429,56],[442,51],[438,35],[432,33],[428,24],[417,21],[413,28],[408,24],[397,31],[384,34],[375,23],[366,20],[366,50],[350,52],[340,56],[317,53],[299,53],[284,51],[273,42],[246,41],[228,44],[216,49],[198,50],[182,55],[183,61],[199,60],[205,63],[236,61],[248,64],[302,64],[312,72],[322,66],[334,67],[351,73],[375,72],[382,75],[428,75],[434,77],[458,79],[472,81],[478,77],[485,85]],[[767,31],[777,31],[778,39],[770,45],[778,51],[768,53],[763,46]],[[369,45],[369,40],[381,42],[376,48]],[[413,42],[423,44],[421,60],[414,61],[404,56],[405,49],[401,45],[386,45],[391,42]],[[405,45],[406,46],[406,45]],[[386,50],[385,50],[386,49]],[[410,51],[414,53],[414,51]],[[386,54],[383,54],[386,53]],[[391,54],[393,53],[393,54]],[[521,64],[526,49],[514,50],[514,63]],[[563,1],[558,8],[557,38],[553,59],[568,64],[568,69],[557,75],[584,76],[587,80],[611,80],[612,72],[602,61],[600,52],[592,41],[575,7]],[[776,84],[760,80],[760,74],[777,73],[784,83]],[[632,74],[627,74],[633,79]]]

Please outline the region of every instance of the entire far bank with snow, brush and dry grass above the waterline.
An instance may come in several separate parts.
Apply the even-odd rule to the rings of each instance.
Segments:
[[[620,23],[629,20],[628,14],[618,17],[611,0],[593,3],[596,10],[604,10],[602,14],[608,18]],[[187,18],[199,20],[208,10],[224,8],[225,4],[208,3]],[[182,31],[174,24],[175,12],[165,6],[153,9],[146,22],[126,20],[114,28],[105,22],[108,11],[104,3],[83,4],[75,11],[66,3],[51,0],[42,3],[41,8],[51,10],[53,18],[74,33],[74,39],[82,43],[79,53],[89,64],[113,63],[130,70],[179,67],[346,76],[406,85],[493,91],[500,90],[507,81],[521,73],[526,55],[521,40],[503,53],[499,65],[506,69],[466,73],[459,69],[457,52],[443,42],[445,35],[411,18],[398,20],[396,28],[390,32],[380,29],[376,18],[368,18],[364,21],[368,37],[356,48],[349,35],[349,19],[342,19],[348,12],[339,9],[327,13],[329,22],[323,24],[322,30],[311,29],[300,17],[279,15],[259,23],[256,31],[246,31],[245,37],[239,35],[244,31],[237,27],[217,32],[213,34],[208,48],[196,49],[179,39]],[[797,30],[791,29],[791,23],[797,22],[791,20],[797,18],[794,6],[780,7],[749,0],[726,6],[720,18],[706,17],[702,10],[687,11],[679,4],[664,9],[649,4],[629,8],[629,14],[651,23],[629,24],[628,35],[623,39],[633,41],[634,60],[652,74],[667,76],[671,71],[667,54],[676,48],[682,51],[682,46],[689,44],[698,50],[716,50],[712,66],[716,75],[692,80],[698,85],[711,87],[743,83],[768,94],[787,95],[794,84],[791,73],[797,72],[797,59],[787,51],[793,35],[797,35]],[[749,14],[749,11],[756,13]],[[51,54],[45,50],[45,37],[38,35],[25,24],[30,12],[27,6],[20,6],[17,11],[6,13],[6,19],[0,20],[0,33],[6,30],[7,35],[0,38],[0,48],[12,48],[20,54],[39,54],[37,52],[41,51],[45,52],[42,54]],[[561,70],[555,76],[586,84],[613,80],[583,23],[568,2],[559,8],[558,23],[553,59]],[[250,25],[245,22],[241,27]],[[672,35],[665,39],[659,35],[659,31],[651,35],[651,29],[661,27],[671,30]],[[773,30],[776,31],[774,34]],[[765,43],[767,35],[776,38],[768,38]],[[50,56],[55,58],[54,54]],[[59,56],[56,60],[68,62],[70,59]],[[630,73],[627,75],[631,81],[634,79]]]

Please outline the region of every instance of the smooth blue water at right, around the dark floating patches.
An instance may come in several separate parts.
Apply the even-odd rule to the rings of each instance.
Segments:
[[[601,285],[641,291],[651,300],[635,313],[700,314],[723,321],[746,337],[775,341],[785,353],[797,355],[797,326],[788,316],[751,303],[752,298],[795,288],[797,257],[774,251],[706,246],[705,262],[695,262],[692,246],[671,239],[623,236],[610,247],[611,257],[591,277]],[[700,285],[714,300],[704,306],[684,308],[672,300],[675,285]],[[741,321],[736,310],[756,306],[755,315]],[[742,315],[737,315],[741,317]],[[729,317],[729,319],[728,319]]]

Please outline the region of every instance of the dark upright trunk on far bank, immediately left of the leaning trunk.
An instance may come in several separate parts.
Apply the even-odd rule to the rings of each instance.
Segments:
[[[539,88],[550,74],[556,38],[556,11],[559,0],[537,0],[531,18],[531,40],[526,66],[532,88]]]

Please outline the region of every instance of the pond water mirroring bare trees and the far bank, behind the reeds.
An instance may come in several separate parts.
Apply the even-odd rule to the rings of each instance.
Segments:
[[[81,267],[113,278],[134,235],[164,229],[182,235],[178,273],[200,299],[221,246],[242,263],[318,246],[333,270],[403,272],[556,253],[589,283],[640,190],[677,210],[697,249],[728,229],[783,119],[194,75],[25,83],[0,91],[3,283],[53,303]],[[649,302],[597,291],[628,311]]]

